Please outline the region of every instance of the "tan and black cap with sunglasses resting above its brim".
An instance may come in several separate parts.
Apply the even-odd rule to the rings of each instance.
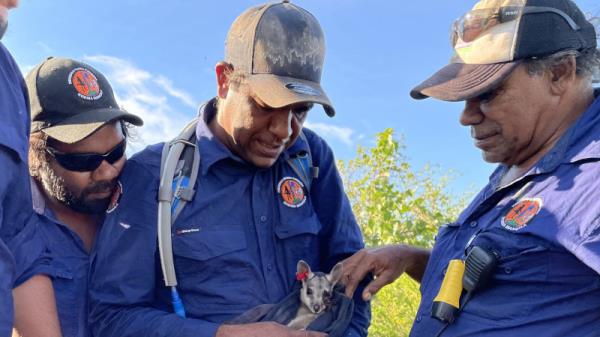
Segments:
[[[498,86],[524,60],[596,48],[571,0],[481,0],[452,26],[450,64],[413,88],[415,99],[463,101]]]

